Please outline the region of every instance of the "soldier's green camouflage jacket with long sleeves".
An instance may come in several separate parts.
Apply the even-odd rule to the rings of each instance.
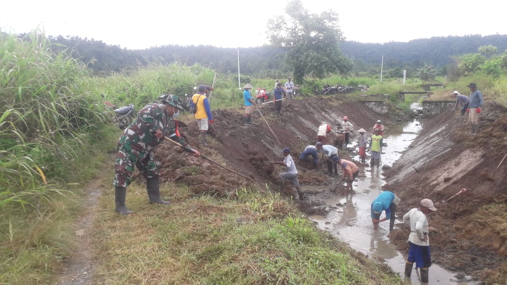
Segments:
[[[157,130],[162,131],[164,136],[171,137],[175,134],[176,126],[171,116],[167,114],[164,104],[150,103],[144,106],[137,118],[125,129],[124,136],[128,137],[126,143],[139,152],[150,152],[163,138],[155,137]]]

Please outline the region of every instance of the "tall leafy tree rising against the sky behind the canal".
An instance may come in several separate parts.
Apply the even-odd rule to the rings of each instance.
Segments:
[[[294,68],[294,80],[301,83],[307,74],[323,78],[329,73],[348,74],[352,61],[342,54],[338,44],[343,33],[333,10],[310,13],[300,0],[293,0],[280,15],[268,21],[271,44],[287,50],[286,62]]]

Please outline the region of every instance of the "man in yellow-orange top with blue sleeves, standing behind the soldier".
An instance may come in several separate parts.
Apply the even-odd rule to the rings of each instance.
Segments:
[[[206,97],[206,93],[209,90],[211,90],[211,87],[199,85],[198,92],[192,96],[191,102],[194,117],[197,120],[197,125],[201,133],[200,143],[202,144],[207,144],[208,123],[213,124],[213,115],[211,115],[208,97]]]

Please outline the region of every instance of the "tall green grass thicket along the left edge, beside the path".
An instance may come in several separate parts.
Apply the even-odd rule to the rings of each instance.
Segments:
[[[73,245],[70,184],[92,172],[104,117],[89,72],[39,30],[0,32],[0,66],[0,283],[47,283]]]

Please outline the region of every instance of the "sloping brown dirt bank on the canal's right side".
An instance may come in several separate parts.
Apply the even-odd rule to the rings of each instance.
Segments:
[[[387,173],[384,186],[402,198],[399,216],[418,207],[422,198],[436,202],[439,211],[428,217],[433,260],[483,282],[503,283],[507,276],[507,238],[487,222],[488,217],[478,216],[487,213],[479,212],[483,206],[507,201],[507,163],[492,175],[507,153],[506,111],[486,103],[480,114],[481,133],[476,136],[469,135],[467,115],[457,124],[459,111],[447,118],[445,112],[426,119],[421,135]],[[467,192],[443,205],[442,200],[461,188]],[[407,247],[406,230],[391,235],[400,248]]]

